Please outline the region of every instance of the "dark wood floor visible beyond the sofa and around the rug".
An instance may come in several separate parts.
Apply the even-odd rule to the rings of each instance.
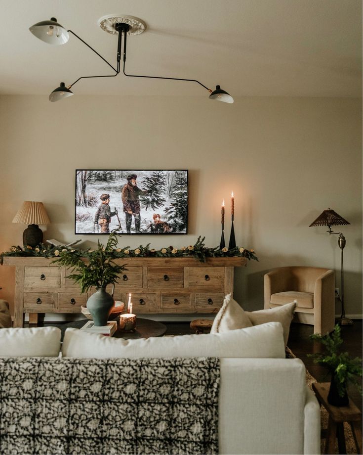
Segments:
[[[167,326],[166,335],[185,335],[193,333],[189,322],[163,322]],[[326,369],[314,364],[313,359],[308,354],[319,352],[320,343],[311,341],[310,335],[314,332],[312,325],[292,323],[287,346],[301,359],[318,382],[330,382],[330,376],[326,374]],[[341,334],[344,340],[344,351],[349,352],[352,357],[362,358],[362,319],[355,319],[353,325],[341,327]],[[362,385],[362,383],[361,383]],[[349,387],[349,395],[354,403],[362,410],[362,396],[357,387]]]

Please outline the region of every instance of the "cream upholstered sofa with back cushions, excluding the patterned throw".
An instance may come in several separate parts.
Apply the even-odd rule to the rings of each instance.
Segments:
[[[54,357],[59,348],[60,331],[55,327],[0,330],[0,357]],[[220,454],[320,453],[320,408],[306,386],[304,364],[285,359],[280,322],[227,333],[141,340],[67,329],[61,352],[63,358],[56,362],[218,357]]]

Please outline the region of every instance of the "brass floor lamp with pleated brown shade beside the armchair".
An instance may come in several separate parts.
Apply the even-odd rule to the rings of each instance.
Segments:
[[[340,267],[341,267],[341,297],[338,294],[338,298],[342,304],[342,314],[339,319],[340,325],[351,325],[353,324],[352,319],[346,318],[345,310],[344,310],[344,257],[343,257],[343,250],[345,247],[345,237],[341,232],[333,232],[331,230],[332,226],[341,226],[341,225],[350,225],[350,223],[345,220],[343,217],[338,215],[334,210],[331,210],[328,207],[327,210],[324,210],[323,213],[319,215],[319,217],[313,221],[313,223],[309,226],[327,226],[329,234],[337,234],[338,237],[338,245],[340,248]]]

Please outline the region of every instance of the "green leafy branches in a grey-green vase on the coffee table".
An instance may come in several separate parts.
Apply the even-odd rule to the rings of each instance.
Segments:
[[[68,278],[73,279],[81,286],[82,292],[87,292],[92,286],[96,292],[87,300],[87,309],[90,312],[94,325],[106,325],[108,317],[115,306],[113,297],[115,283],[119,274],[125,270],[124,265],[113,261],[112,252],[117,246],[117,236],[111,233],[106,246],[98,240],[97,249],[82,252],[82,258],[75,251],[63,251],[56,262],[72,269]],[[113,285],[112,293],[106,292],[106,286]]]

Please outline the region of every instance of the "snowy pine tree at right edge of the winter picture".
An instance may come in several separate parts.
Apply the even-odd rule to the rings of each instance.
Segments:
[[[176,176],[174,187],[171,191],[172,202],[165,209],[169,226],[174,232],[182,232],[187,228],[188,209],[188,182],[183,174]]]

